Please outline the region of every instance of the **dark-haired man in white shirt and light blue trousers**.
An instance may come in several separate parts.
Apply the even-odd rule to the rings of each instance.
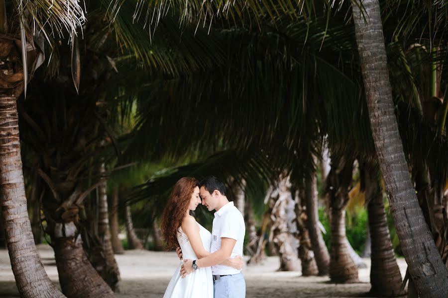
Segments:
[[[212,254],[200,260],[184,260],[182,277],[193,270],[212,266],[214,298],[244,298],[246,282],[241,270],[219,265],[228,258],[242,256],[245,234],[244,219],[241,213],[225,196],[224,183],[214,176],[201,181],[200,196],[202,205],[209,211],[216,210],[212,228]]]

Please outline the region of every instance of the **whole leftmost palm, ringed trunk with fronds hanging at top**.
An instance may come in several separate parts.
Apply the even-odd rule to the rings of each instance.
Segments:
[[[65,8],[61,9],[65,4],[71,5],[71,14],[66,13]],[[46,19],[55,31],[62,33],[62,28],[65,26],[71,31],[69,34],[72,34],[84,22],[83,9],[76,1],[54,1],[54,5],[50,6],[50,3],[46,2],[26,5],[15,0],[1,1],[0,8],[2,11],[0,59],[3,82],[0,89],[2,115],[0,191],[11,267],[21,297],[64,297],[49,280],[34,245],[26,210],[16,100],[24,90],[26,92],[28,63],[33,65],[31,70],[34,71],[41,64],[38,62],[39,58],[42,58],[43,49],[34,45],[32,39],[27,40],[27,32],[30,32],[28,24],[33,21],[45,32],[46,29],[42,28],[43,22],[38,18],[40,16]],[[20,36],[15,35],[17,32],[20,32]],[[21,44],[21,54],[15,43],[18,40]],[[28,57],[34,56],[35,61],[27,59],[28,45],[34,54]]]

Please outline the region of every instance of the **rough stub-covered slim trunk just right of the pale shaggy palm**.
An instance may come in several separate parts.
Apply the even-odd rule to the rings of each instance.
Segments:
[[[304,192],[302,192],[302,197],[304,197]],[[296,191],[295,199],[295,223],[297,225],[297,234],[300,240],[300,246],[297,251],[299,259],[302,261],[302,275],[303,276],[313,276],[319,274],[319,269],[316,263],[315,254],[311,247],[311,240],[306,228],[306,222],[304,222],[304,215],[306,212],[305,202],[301,200],[299,196],[299,191]]]

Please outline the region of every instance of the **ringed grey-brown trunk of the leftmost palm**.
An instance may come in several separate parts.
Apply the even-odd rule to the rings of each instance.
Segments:
[[[13,39],[0,40],[0,45],[15,51]],[[16,52],[13,54],[18,57]],[[17,60],[10,59],[6,65],[12,61]],[[6,93],[3,90],[0,95],[0,200],[12,272],[20,297],[62,298],[64,295],[48,278],[34,244],[26,209],[16,97]]]

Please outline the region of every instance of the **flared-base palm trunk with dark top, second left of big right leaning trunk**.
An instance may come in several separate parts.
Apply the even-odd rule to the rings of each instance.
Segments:
[[[350,256],[345,236],[345,206],[351,182],[353,159],[332,158],[332,169],[327,178],[327,195],[331,210],[330,279],[336,283],[358,280],[358,269]]]

